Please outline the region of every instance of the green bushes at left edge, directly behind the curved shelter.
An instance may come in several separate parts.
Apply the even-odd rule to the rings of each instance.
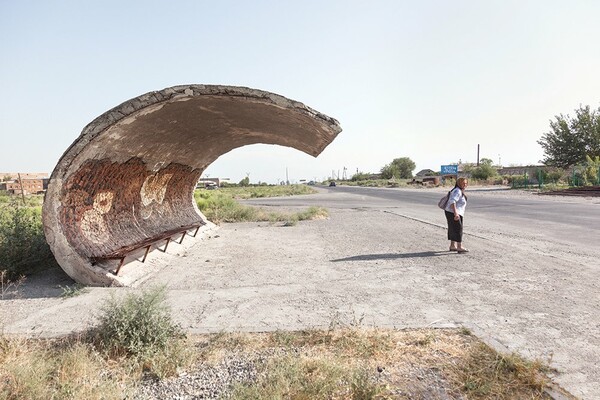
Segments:
[[[56,267],[58,264],[42,230],[40,198],[11,198],[0,204],[0,270],[8,279]]]

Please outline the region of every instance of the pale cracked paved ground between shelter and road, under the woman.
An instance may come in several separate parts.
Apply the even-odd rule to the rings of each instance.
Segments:
[[[352,195],[315,196],[341,204]],[[326,220],[226,224],[173,253],[153,252],[146,264],[125,267],[152,269],[137,288],[64,297],[72,282],[63,274],[32,278],[16,297],[5,293],[0,326],[42,337],[76,332],[94,323],[108,296],[166,285],[175,319],[190,333],[466,326],[497,349],[547,361],[572,394],[600,398],[600,248],[472,218],[471,252],[457,255],[447,251],[439,210],[415,218],[414,207],[385,202],[327,208]]]

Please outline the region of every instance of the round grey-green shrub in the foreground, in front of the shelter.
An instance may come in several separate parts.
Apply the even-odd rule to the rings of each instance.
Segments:
[[[164,286],[128,294],[122,300],[111,297],[101,309],[96,330],[101,347],[110,353],[143,358],[163,352],[183,336],[165,299]]]

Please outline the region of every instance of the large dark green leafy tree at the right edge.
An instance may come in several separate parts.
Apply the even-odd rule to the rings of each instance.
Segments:
[[[586,162],[586,156],[600,156],[600,108],[575,110],[575,118],[558,115],[550,121],[550,131],[538,144],[544,149],[545,165],[567,168]]]

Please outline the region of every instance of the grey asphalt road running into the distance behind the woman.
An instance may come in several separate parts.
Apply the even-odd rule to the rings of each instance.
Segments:
[[[248,203],[263,206],[318,205],[325,208],[399,207],[405,216],[444,224],[437,202],[443,193],[435,189],[388,189],[355,186],[318,187],[328,193],[347,193],[352,196],[311,198],[295,196],[285,199],[253,199]],[[600,200],[581,202],[572,198],[531,194],[511,196],[510,189],[473,188],[467,191],[466,228],[469,221],[493,220],[513,229],[541,235],[562,246],[598,247],[600,243]],[[508,195],[505,195],[508,194]],[[441,216],[441,217],[440,217]],[[471,229],[471,231],[473,231]],[[473,232],[474,234],[476,232]]]

